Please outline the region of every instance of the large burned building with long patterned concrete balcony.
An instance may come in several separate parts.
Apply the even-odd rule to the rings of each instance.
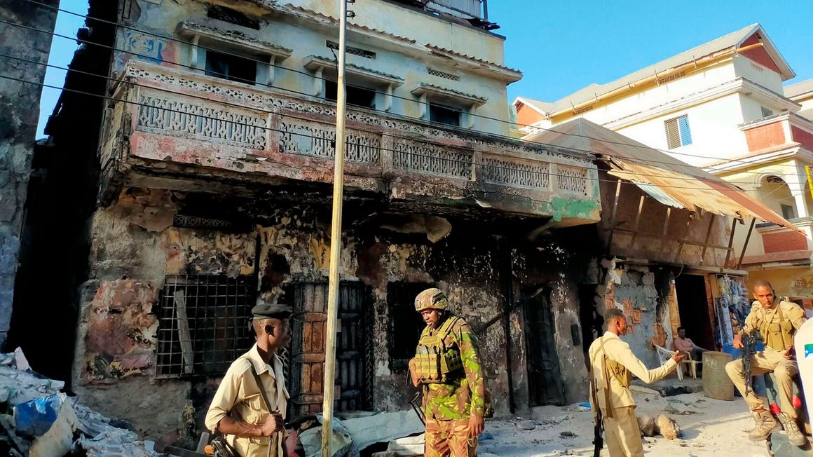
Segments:
[[[253,342],[250,308],[286,302],[289,413],[319,411],[341,242],[338,410],[408,407],[413,301],[429,286],[478,333],[498,414],[585,398],[595,157],[509,139],[506,85],[521,73],[485,2],[425,3],[354,4],[331,240],[335,2],[91,1],[35,159],[15,300],[32,365],[143,436],[196,442],[219,376]],[[43,287],[48,262],[59,272]],[[66,323],[55,365],[37,339],[49,314]]]

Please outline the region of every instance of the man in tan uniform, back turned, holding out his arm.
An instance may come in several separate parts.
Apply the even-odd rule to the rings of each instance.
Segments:
[[[590,406],[593,407],[593,414],[598,414],[596,408],[602,413],[610,457],[638,457],[644,455],[644,446],[635,417],[635,401],[632,392],[629,391],[632,375],[647,384],[658,381],[677,367],[685,358],[685,353],[676,350],[672,354],[672,359],[667,360],[659,368],[647,369],[629,349],[629,345],[620,338],[627,332],[624,311],[611,308],[606,311],[604,319],[606,333],[594,341],[588,351],[591,376]]]

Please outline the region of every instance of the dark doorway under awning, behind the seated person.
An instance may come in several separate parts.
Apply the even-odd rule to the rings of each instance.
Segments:
[[[706,295],[706,278],[682,274],[675,278],[675,289],[680,326],[686,329],[686,337],[698,346],[713,350],[715,338]]]

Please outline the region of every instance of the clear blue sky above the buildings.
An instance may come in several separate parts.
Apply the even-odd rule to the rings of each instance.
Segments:
[[[87,0],[60,7],[87,12]],[[813,2],[772,0],[616,0],[615,2],[491,0],[489,20],[506,36],[506,64],[524,72],[508,87],[517,95],[553,101],[591,82],[605,83],[659,60],[759,22],[798,75],[813,78]],[[57,33],[74,36],[83,21],[59,14]],[[76,41],[54,37],[49,63],[66,67]],[[61,86],[65,72],[48,68],[46,84]],[[787,84],[787,83],[786,83]],[[37,137],[59,91],[43,89]]]

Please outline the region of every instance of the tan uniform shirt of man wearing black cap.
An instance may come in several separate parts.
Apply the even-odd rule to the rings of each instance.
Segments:
[[[212,432],[217,431],[217,424],[225,416],[234,420],[241,420],[249,424],[261,425],[268,417],[268,410],[263,403],[259,386],[251,373],[251,364],[263,382],[268,402],[272,409],[280,411],[285,417],[288,407],[288,390],[285,389],[285,379],[282,375],[282,361],[274,355],[274,368],[268,366],[259,356],[255,344],[246,354],[241,355],[228,368],[223,381],[217,388],[215,398],[206,415],[206,428]],[[234,437],[228,435],[229,444],[237,449],[242,457],[267,457],[282,454],[283,433],[276,433],[272,439],[269,437]],[[271,449],[269,449],[271,445]]]

